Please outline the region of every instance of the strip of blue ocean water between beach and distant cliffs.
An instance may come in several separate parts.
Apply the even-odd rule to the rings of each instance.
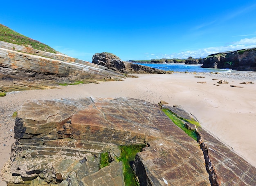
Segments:
[[[228,73],[232,70],[230,69],[210,69],[210,68],[201,68],[202,64],[176,64],[176,63],[136,63],[144,66],[150,66],[156,69],[161,69],[164,71],[175,71],[175,72],[219,72],[219,73]]]

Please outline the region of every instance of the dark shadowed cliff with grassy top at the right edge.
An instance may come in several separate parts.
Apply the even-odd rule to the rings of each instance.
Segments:
[[[256,48],[211,54],[204,59],[202,67],[256,71]]]

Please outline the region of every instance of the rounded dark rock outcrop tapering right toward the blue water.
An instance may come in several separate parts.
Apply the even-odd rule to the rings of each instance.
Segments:
[[[133,64],[130,62],[122,61],[119,57],[112,53],[96,53],[92,57],[92,63],[106,66],[111,70],[121,73],[158,73],[158,74],[171,74],[171,71],[163,71],[148,66]]]

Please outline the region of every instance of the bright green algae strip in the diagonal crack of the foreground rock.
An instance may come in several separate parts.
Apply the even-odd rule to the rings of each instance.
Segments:
[[[192,137],[194,140],[197,140],[197,135],[195,131],[191,131],[185,127],[184,120],[177,117],[175,114],[173,114],[169,109],[162,109],[162,111],[173,121],[175,125],[180,127],[187,135]]]

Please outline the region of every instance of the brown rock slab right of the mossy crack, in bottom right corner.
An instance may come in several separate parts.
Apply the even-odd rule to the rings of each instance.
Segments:
[[[178,117],[195,120],[191,114],[184,111],[181,106],[163,106],[165,109],[171,110]],[[191,130],[195,130],[195,126],[186,123]],[[204,151],[206,168],[211,174],[214,171],[218,184],[222,186],[231,185],[256,185],[256,168],[249,164],[245,159],[236,154],[230,147],[226,146],[204,128],[198,127],[198,140]]]

